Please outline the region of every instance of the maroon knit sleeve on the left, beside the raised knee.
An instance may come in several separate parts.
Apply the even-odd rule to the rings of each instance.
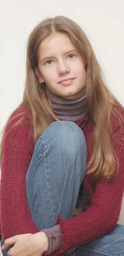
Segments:
[[[4,239],[37,233],[26,199],[26,172],[33,154],[28,118],[14,128],[21,115],[6,126],[1,167],[0,208],[1,232]]]

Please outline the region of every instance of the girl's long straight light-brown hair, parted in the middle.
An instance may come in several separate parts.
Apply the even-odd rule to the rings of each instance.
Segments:
[[[52,110],[52,102],[46,96],[45,87],[40,85],[34,73],[35,67],[38,67],[38,46],[43,39],[53,32],[69,35],[73,44],[81,52],[87,66],[85,93],[89,106],[89,116],[94,126],[93,153],[87,165],[87,173],[93,173],[95,180],[100,178],[101,180],[105,180],[106,178],[112,177],[115,173],[115,156],[112,148],[112,128],[110,125],[111,116],[113,116],[113,120],[114,117],[116,120],[118,116],[118,122],[120,122],[122,127],[124,119],[118,109],[124,111],[124,108],[104,84],[101,67],[98,64],[91,44],[85,33],[74,21],[63,16],[47,18],[40,22],[31,32],[27,44],[26,83],[23,101],[18,108],[23,109],[22,107],[27,107],[31,110],[30,119],[33,125],[34,143],[36,143],[40,135],[52,121],[57,120]],[[20,119],[20,122],[22,122],[22,119]],[[18,123],[15,125],[18,125]],[[1,141],[1,163],[4,131]]]

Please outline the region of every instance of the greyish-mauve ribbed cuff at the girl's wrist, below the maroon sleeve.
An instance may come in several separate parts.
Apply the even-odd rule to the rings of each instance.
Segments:
[[[61,229],[60,225],[56,225],[52,228],[40,230],[44,232],[48,239],[48,248],[44,255],[49,255],[54,253],[55,251],[61,249],[62,247],[62,235],[61,235]]]

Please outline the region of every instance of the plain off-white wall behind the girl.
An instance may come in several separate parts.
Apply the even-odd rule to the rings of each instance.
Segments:
[[[22,100],[28,36],[42,19],[56,15],[81,26],[107,86],[124,105],[124,0],[0,0],[0,132]]]

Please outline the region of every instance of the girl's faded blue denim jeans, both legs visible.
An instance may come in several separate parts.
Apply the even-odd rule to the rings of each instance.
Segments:
[[[37,140],[26,174],[26,195],[39,230],[53,227],[57,214],[63,219],[73,217],[86,157],[84,134],[74,122],[53,122]],[[124,256],[124,226],[117,225],[108,235],[73,248],[67,254]]]

